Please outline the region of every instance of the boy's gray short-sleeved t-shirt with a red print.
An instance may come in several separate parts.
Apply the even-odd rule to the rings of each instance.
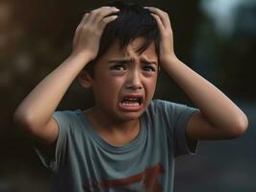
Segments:
[[[54,112],[59,126],[55,156],[36,147],[38,156],[55,173],[53,191],[173,190],[174,157],[195,154],[188,146],[186,124],[196,108],[154,100],[140,117],[141,131],[116,147],[103,140],[80,109]]]

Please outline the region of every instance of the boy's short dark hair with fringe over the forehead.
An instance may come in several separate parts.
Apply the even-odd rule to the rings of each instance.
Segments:
[[[114,43],[118,40],[120,49],[124,49],[137,37],[143,37],[144,43],[137,50],[140,54],[154,42],[156,53],[159,56],[160,33],[157,23],[150,12],[140,5],[125,2],[113,1],[107,6],[119,9],[115,21],[109,23],[100,39],[98,55],[95,60],[91,60],[85,70],[93,77],[93,62],[102,57]]]

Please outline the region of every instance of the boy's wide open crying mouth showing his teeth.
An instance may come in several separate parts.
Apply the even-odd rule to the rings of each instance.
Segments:
[[[142,96],[125,96],[120,101],[121,108],[141,108],[143,102]]]

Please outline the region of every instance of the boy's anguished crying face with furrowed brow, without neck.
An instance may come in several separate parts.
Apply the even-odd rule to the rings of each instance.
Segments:
[[[136,38],[126,49],[118,43],[94,64],[91,80],[95,109],[115,120],[135,120],[148,107],[155,92],[158,57],[154,43],[139,55],[143,38]]]

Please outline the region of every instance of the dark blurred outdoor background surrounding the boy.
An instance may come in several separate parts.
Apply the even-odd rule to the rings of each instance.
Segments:
[[[13,125],[22,99],[71,51],[83,14],[99,0],[0,0],[0,192],[50,191],[51,172],[31,139]],[[201,141],[196,156],[176,160],[177,192],[256,191],[256,1],[139,1],[169,13],[175,52],[216,84],[249,119],[242,137]],[[155,98],[193,106],[161,72]],[[58,109],[89,108],[90,91],[74,82]]]

